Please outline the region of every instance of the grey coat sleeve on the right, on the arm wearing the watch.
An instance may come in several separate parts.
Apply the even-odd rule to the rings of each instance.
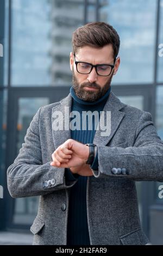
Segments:
[[[137,181],[163,181],[163,142],[153,126],[150,113],[143,111],[133,147],[97,147],[99,166],[98,170],[92,170],[96,178],[112,176]]]

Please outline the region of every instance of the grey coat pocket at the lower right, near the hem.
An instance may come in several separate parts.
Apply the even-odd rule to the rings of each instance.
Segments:
[[[136,229],[131,233],[120,236],[122,245],[146,245],[148,238],[141,229]]]

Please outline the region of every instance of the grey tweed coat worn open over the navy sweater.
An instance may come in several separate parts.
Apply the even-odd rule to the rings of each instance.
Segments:
[[[41,107],[27,130],[25,143],[8,168],[12,197],[40,196],[30,230],[34,245],[66,245],[70,188],[65,169],[50,166],[55,149],[70,138],[70,130],[52,129],[54,111],[64,114],[72,97]],[[87,179],[86,204],[91,245],[145,245],[140,225],[136,180],[163,181],[163,142],[151,114],[123,104],[110,93],[104,111],[111,111],[111,134],[97,130],[99,169]],[[115,174],[113,168],[125,168]],[[115,169],[114,169],[115,170]],[[124,170],[124,169],[123,169]]]

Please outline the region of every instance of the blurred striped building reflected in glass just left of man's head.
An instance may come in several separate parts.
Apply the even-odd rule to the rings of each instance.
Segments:
[[[49,67],[49,74],[54,86],[56,84],[70,86],[72,75],[69,56],[72,51],[72,33],[77,27],[83,25],[84,2],[51,0],[50,3],[52,30],[49,54],[52,65]]]

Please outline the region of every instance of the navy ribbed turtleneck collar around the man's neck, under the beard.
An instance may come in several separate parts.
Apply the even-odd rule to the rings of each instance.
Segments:
[[[78,107],[96,107],[97,105],[99,105],[99,103],[100,103],[100,105],[101,105],[101,103],[103,104],[103,103],[105,103],[106,102],[106,100],[108,99],[108,96],[109,96],[109,94],[110,94],[110,91],[111,91],[111,87],[108,89],[108,91],[105,93],[105,95],[103,95],[101,98],[99,98],[97,101],[85,101],[85,100],[82,100],[82,99],[79,99],[79,97],[76,95],[76,93],[74,92],[74,88],[73,88],[73,86],[70,88],[70,93],[71,93],[71,96],[73,97],[73,100],[75,101],[74,103],[75,103],[75,105],[77,106],[78,105]],[[96,105],[96,106],[95,106]]]

